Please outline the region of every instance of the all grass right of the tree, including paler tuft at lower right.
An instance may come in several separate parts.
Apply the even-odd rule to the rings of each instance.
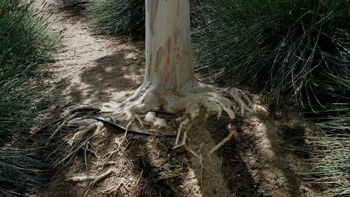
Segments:
[[[295,102],[315,137],[311,174],[349,196],[350,2],[216,1],[193,32],[197,72],[221,86],[258,86],[274,104]],[[345,133],[345,134],[344,134]]]

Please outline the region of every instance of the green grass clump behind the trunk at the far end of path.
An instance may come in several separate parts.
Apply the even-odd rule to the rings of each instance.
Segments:
[[[202,2],[190,1],[192,27],[207,23],[207,13],[203,13]],[[87,16],[97,32],[126,36],[142,40],[145,36],[145,1],[140,0],[101,0],[90,1]]]

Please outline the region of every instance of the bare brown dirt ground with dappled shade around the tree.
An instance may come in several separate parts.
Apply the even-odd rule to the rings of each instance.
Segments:
[[[81,15],[51,8],[62,44],[41,76],[50,93],[39,104],[47,111],[43,116],[58,118],[74,104],[120,102],[141,85],[144,43],[94,34]],[[60,164],[64,168],[51,184],[33,196],[321,196],[320,189],[300,175],[308,168],[304,160],[308,155],[291,148],[305,143],[302,118],[293,109],[244,117],[239,116],[238,107],[236,111],[234,121],[228,116],[202,116],[190,125],[188,147],[202,157],[207,170],[186,149],[172,150],[174,140],[125,137],[106,128],[91,141],[97,156],[72,156]],[[132,128],[176,133],[175,119],[181,114],[161,116],[169,124],[166,129],[137,124]],[[209,158],[209,151],[230,132],[232,140]],[[60,133],[62,139],[71,135]],[[113,169],[111,175],[94,186],[89,181],[66,181],[109,169]]]

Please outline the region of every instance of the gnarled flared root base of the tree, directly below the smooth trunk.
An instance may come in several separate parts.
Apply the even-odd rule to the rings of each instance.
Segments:
[[[116,102],[101,102],[70,107],[62,114],[64,121],[57,127],[55,132],[52,133],[51,137],[57,135],[57,132],[64,125],[78,127],[78,132],[71,139],[71,144],[83,140],[84,137],[93,130],[93,135],[97,135],[102,130],[102,123],[93,118],[74,118],[76,111],[97,110],[102,117],[109,121],[129,121],[127,127],[134,120],[137,120],[141,125],[144,125],[144,121],[146,121],[155,123],[155,125],[158,126],[165,126],[165,120],[155,117],[155,114],[148,113],[144,121],[141,119],[141,114],[146,114],[152,109],[162,109],[172,114],[184,111],[178,137],[176,138],[177,145],[182,128],[188,124],[190,119],[200,116],[201,107],[204,107],[206,111],[204,116],[206,117],[215,115],[220,118],[223,111],[225,111],[231,119],[235,118],[232,103],[223,96],[225,93],[230,95],[230,97],[239,104],[242,116],[244,116],[245,111],[266,111],[263,107],[254,104],[249,98],[249,96],[253,96],[253,100],[256,100],[256,96],[244,93],[242,90],[235,88],[225,90],[195,81],[181,90],[159,92],[155,91],[155,87],[153,86],[143,85],[120,104]],[[186,141],[186,137],[184,137],[184,139]]]

